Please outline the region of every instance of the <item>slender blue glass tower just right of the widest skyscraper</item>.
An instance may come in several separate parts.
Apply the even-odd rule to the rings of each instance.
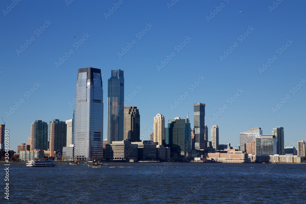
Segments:
[[[107,141],[123,140],[124,76],[123,70],[112,70],[107,94]]]

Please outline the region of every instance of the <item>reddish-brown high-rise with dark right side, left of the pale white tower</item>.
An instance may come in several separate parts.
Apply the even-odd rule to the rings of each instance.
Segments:
[[[53,119],[50,121],[50,139],[49,150],[50,151],[63,151],[63,147],[66,147],[67,142],[67,124],[64,121]]]

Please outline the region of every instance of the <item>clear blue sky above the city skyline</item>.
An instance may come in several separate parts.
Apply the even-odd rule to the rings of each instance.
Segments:
[[[218,125],[220,144],[235,147],[240,132],[261,127],[270,135],[280,126],[285,145],[296,147],[306,139],[306,2],[274,2],[75,0],[67,6],[58,0],[21,1],[8,9],[12,1],[0,1],[0,114],[10,149],[27,143],[33,121],[72,118],[77,70],[86,67],[103,74],[104,139],[107,79],[112,69],[122,69],[125,104],[139,109],[142,140],[150,139],[157,113],[168,121],[189,112],[193,127],[193,103],[201,102],[209,135]],[[114,4],[118,8],[106,19]],[[263,64],[269,66],[263,70]],[[31,90],[35,83],[39,87]],[[10,115],[15,102],[20,107]]]

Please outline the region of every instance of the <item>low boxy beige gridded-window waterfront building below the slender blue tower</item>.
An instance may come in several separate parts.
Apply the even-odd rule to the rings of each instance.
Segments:
[[[138,145],[129,141],[113,141],[106,144],[105,159],[109,161],[129,161],[138,158]]]

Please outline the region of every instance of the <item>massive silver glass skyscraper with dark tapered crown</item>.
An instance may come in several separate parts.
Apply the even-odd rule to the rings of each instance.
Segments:
[[[103,87],[101,70],[78,70],[74,104],[74,157],[103,157]]]

